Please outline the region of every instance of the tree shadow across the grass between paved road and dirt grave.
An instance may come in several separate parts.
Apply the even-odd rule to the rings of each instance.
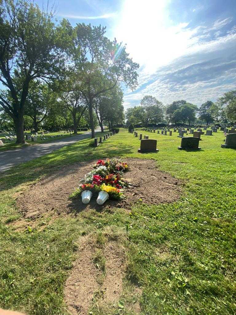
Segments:
[[[112,138],[111,138],[112,139]],[[116,139],[117,140],[117,139]],[[116,147],[112,141],[105,142],[98,147],[89,146],[91,139],[84,139],[71,146],[65,146],[57,151],[33,159],[26,163],[18,164],[0,175],[0,191],[4,191],[15,186],[32,182],[39,177],[50,177],[53,174],[56,178],[59,175],[58,169],[64,166],[88,162],[102,157],[115,157],[133,152],[130,145],[119,145]],[[68,172],[71,171],[68,168]],[[58,173],[58,174],[57,174]],[[65,172],[66,175],[67,172]],[[33,192],[33,191],[32,191]]]

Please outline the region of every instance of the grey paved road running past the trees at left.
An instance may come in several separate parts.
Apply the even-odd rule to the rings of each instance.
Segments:
[[[95,131],[101,131],[100,127]],[[64,139],[58,139],[48,143],[40,143],[33,146],[27,146],[25,148],[14,149],[10,151],[0,152],[0,172],[9,169],[10,167],[30,161],[34,158],[41,157],[52,151],[58,150],[63,146],[68,146],[79,140],[87,139],[91,137],[91,132],[85,132],[81,135],[68,137]]]

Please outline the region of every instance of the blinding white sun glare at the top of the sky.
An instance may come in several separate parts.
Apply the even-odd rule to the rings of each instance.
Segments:
[[[168,13],[169,0],[126,0],[117,21],[115,36],[127,44],[133,60],[155,70],[186,52],[193,45],[188,23],[174,24]]]

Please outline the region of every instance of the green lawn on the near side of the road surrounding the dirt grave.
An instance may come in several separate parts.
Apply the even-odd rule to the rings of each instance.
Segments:
[[[143,315],[236,313],[236,151],[221,148],[219,131],[201,136],[201,151],[188,152],[177,150],[177,133],[142,133],[157,139],[158,153],[138,153],[140,140],[120,129],[97,148],[88,146],[91,139],[81,140],[1,175],[1,307],[69,314],[64,285],[87,237],[96,243],[91,264],[103,275],[109,241],[125,248],[126,270],[119,301],[106,306],[101,291],[95,292],[90,314],[131,315],[135,312],[128,305],[136,309],[139,302]],[[140,200],[130,211],[105,207],[34,219],[18,211],[17,194],[44,176],[76,162],[114,156],[154,159],[160,170],[183,180],[180,199],[151,206]]]

